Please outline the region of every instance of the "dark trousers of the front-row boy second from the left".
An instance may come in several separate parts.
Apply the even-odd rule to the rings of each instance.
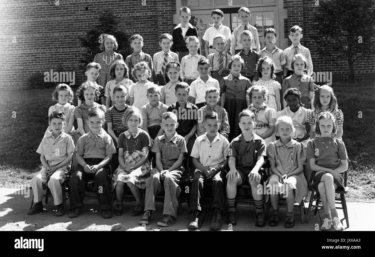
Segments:
[[[87,164],[96,165],[99,164],[102,159],[100,158],[85,158]],[[77,207],[83,207],[83,199],[85,198],[85,188],[87,180],[95,180],[95,191],[96,197],[100,204],[101,210],[110,210],[111,209],[111,185],[108,182],[108,176],[110,171],[107,166],[101,168],[95,173],[86,173],[84,168],[78,164],[75,168],[75,171],[71,177],[71,193],[70,193],[70,206],[72,209]]]

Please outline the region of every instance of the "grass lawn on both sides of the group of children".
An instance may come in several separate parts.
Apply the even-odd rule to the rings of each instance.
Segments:
[[[348,201],[375,202],[375,83],[344,81],[332,86],[344,113],[343,140],[350,159]],[[36,149],[47,128],[48,108],[54,104],[52,91],[0,93],[0,186],[29,184],[39,170]]]

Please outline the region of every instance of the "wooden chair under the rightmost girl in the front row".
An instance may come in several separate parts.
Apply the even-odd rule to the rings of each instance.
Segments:
[[[315,209],[314,215],[316,215],[318,213],[320,223],[322,224],[318,208],[322,208],[323,205],[320,204],[321,200],[320,200],[319,192],[316,191],[317,194],[314,195],[315,190],[311,187],[312,179],[315,176],[315,173],[316,173],[316,171],[313,171],[313,173],[311,175],[311,178],[310,178],[310,181],[309,181],[309,190],[312,191],[312,194],[311,194],[311,198],[310,198],[310,202],[309,202],[309,208],[308,208],[308,212],[307,212],[306,223],[309,223],[310,212],[312,210],[312,207],[314,207],[314,209]],[[338,191],[338,190],[335,191],[336,194],[339,194],[339,197],[335,197],[335,205],[341,204],[341,207],[336,207],[336,209],[343,210],[344,218],[341,219],[341,222],[343,222],[344,219],[345,219],[345,221],[347,222],[347,228],[348,228],[349,227],[348,208],[347,208],[347,202],[345,200],[345,194],[347,194],[348,191],[349,191],[347,183],[348,183],[348,171],[345,171],[344,172],[344,190],[343,191]],[[314,200],[316,200],[315,204],[313,204]]]

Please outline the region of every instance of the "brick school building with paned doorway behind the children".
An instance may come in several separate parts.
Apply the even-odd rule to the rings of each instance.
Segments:
[[[120,29],[129,35],[143,36],[145,53],[153,56],[159,50],[157,39],[162,33],[172,33],[179,23],[182,6],[191,9],[190,23],[202,37],[210,26],[214,8],[224,12],[223,24],[231,28],[240,25],[237,11],[241,6],[250,9],[251,25],[258,29],[261,48],[263,32],[273,27],[278,32],[276,46],[285,49],[290,27],[303,29],[301,44],[311,51],[314,72],[332,72],[335,80],[348,77],[347,62],[323,62],[317,46],[310,38],[311,23],[317,9],[315,0],[2,0],[0,3],[0,89],[26,88],[35,72],[49,72],[62,65],[75,69],[84,53],[79,36],[98,23],[98,12],[112,9],[119,15]],[[121,42],[118,42],[121,44]],[[202,49],[204,51],[204,48]],[[125,56],[124,56],[125,58]],[[373,78],[374,57],[366,63],[356,63],[357,78]],[[81,71],[75,74],[76,86],[84,82]],[[317,82],[317,84],[323,84]],[[103,85],[104,86],[104,85]]]

